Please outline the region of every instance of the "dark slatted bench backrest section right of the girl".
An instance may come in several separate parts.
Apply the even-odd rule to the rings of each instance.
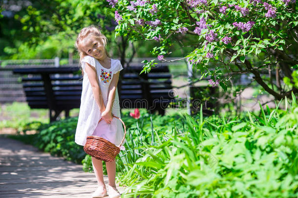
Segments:
[[[129,66],[120,82],[121,108],[154,108],[154,104],[169,104],[173,100],[171,74],[168,66],[152,68],[142,73],[142,66]],[[169,102],[167,102],[169,101]],[[164,106],[167,106],[164,104]]]

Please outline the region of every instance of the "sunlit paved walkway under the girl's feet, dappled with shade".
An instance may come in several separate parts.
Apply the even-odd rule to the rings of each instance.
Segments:
[[[0,136],[0,198],[91,198],[96,188],[82,165]]]

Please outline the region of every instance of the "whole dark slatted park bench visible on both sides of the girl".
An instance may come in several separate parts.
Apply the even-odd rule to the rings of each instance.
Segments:
[[[146,108],[164,114],[173,99],[169,68],[161,66],[149,74],[139,75],[141,70],[142,66],[125,69],[118,88],[120,107]],[[56,120],[62,111],[68,117],[69,110],[80,108],[82,75],[79,67],[17,68],[13,72],[22,75],[29,107],[49,109],[50,121]]]

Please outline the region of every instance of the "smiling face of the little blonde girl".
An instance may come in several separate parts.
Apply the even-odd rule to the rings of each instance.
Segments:
[[[87,55],[93,56],[98,60],[104,60],[106,58],[104,44],[92,35],[88,35],[85,39],[83,39],[82,49]]]

